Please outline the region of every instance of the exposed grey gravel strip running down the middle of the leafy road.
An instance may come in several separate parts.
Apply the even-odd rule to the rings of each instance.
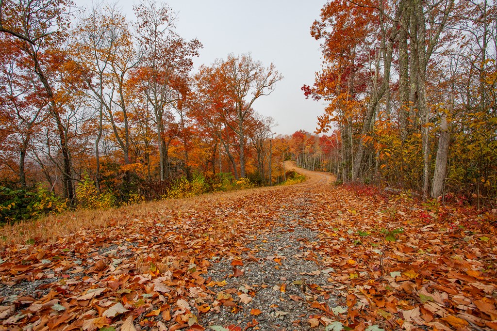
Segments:
[[[233,276],[233,259],[215,259],[206,278],[225,280],[226,286],[216,288],[217,295],[228,294],[235,299],[238,295],[243,309],[235,312],[233,307],[220,305],[199,319],[206,322],[203,325],[234,325],[243,330],[255,318],[260,330],[308,330],[307,321],[313,314],[326,316],[310,309],[308,302],[326,303],[330,308],[337,305],[333,287],[327,281],[330,269],[321,264],[322,259],[314,259],[319,245],[317,233],[306,227],[311,220],[299,215],[312,201],[304,194],[289,204],[291,208],[283,206],[279,210],[275,227],[253,234],[246,246],[249,252],[244,265],[236,266],[243,275]],[[254,293],[249,303],[242,302],[243,293]],[[261,313],[253,316],[251,309]]]

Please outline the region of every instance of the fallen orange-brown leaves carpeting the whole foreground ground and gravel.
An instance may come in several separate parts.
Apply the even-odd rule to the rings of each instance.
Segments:
[[[497,330],[492,215],[299,171],[5,247],[0,330]]]

